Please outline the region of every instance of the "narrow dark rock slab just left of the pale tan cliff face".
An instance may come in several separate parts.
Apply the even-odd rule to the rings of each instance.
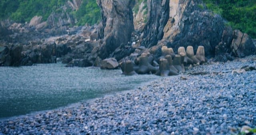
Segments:
[[[155,46],[164,36],[164,26],[169,19],[170,0],[148,0],[148,22],[144,28],[141,46]]]

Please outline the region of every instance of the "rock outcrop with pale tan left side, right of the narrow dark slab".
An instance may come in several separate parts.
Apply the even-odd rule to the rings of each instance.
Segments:
[[[160,42],[174,50],[179,46],[204,46],[206,56],[214,56],[226,26],[221,16],[200,6],[203,6],[202,0],[170,1],[169,20]]]

